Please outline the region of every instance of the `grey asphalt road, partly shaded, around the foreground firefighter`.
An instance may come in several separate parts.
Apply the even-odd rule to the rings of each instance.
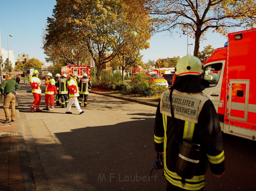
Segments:
[[[32,113],[30,92],[22,86],[18,103],[39,190],[165,190],[162,170],[149,177],[156,160],[155,107],[89,94],[82,115],[74,106],[72,115],[58,106]],[[226,174],[217,179],[208,169],[205,190],[256,190],[256,143],[226,134],[223,141]]]

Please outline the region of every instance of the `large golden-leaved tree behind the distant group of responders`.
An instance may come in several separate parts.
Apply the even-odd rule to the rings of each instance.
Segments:
[[[148,15],[145,14],[143,18],[132,17],[131,11],[134,7],[136,6],[129,0],[57,0],[53,17],[48,18],[43,48],[52,58],[58,57],[60,53],[52,51],[60,45],[59,43],[73,46],[72,50],[83,49],[89,52],[100,74],[103,64],[111,61],[116,55],[124,55],[121,49],[127,51],[127,59],[128,53],[134,51],[134,57],[138,50],[148,47],[146,41],[150,39],[149,29],[143,31],[145,26],[140,27],[139,24],[140,19],[145,19]],[[142,5],[137,7],[143,10]],[[137,33],[136,37],[131,36],[131,31]],[[124,38],[125,36],[129,37]],[[143,45],[139,44],[141,41],[144,42]],[[133,49],[131,45],[137,47]]]

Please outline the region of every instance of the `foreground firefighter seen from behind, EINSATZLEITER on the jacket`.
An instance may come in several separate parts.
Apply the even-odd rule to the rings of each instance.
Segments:
[[[205,88],[202,74],[201,61],[197,57],[181,58],[176,65],[175,82],[161,95],[158,104],[155,151],[164,155],[167,190],[203,190],[207,163],[215,177],[224,174],[220,123],[213,103],[201,92]],[[192,149],[184,145],[187,148],[196,145],[195,150],[201,151],[197,153],[198,159],[185,156]],[[181,153],[181,148],[186,148],[182,150],[186,152]]]

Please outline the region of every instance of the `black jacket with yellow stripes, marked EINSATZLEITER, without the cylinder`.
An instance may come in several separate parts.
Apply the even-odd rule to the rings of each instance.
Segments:
[[[164,176],[167,181],[184,190],[204,187],[207,160],[214,174],[224,172],[224,151],[217,113],[212,102],[202,93],[173,90],[170,112],[170,90],[161,95],[155,119],[155,150],[164,152]],[[176,124],[176,125],[175,125]],[[179,145],[188,138],[201,145],[198,168],[191,179],[182,180],[175,172]]]

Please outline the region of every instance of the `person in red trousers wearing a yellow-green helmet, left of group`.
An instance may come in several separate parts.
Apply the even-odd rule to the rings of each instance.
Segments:
[[[41,85],[42,84],[41,84],[40,79],[38,78],[38,75],[39,75],[38,70],[34,70],[33,75],[29,81],[31,88],[32,88],[32,94],[35,99],[30,107],[31,112],[35,112],[35,109],[36,109],[36,112],[42,112],[42,110],[40,109],[41,93],[42,93]]]

